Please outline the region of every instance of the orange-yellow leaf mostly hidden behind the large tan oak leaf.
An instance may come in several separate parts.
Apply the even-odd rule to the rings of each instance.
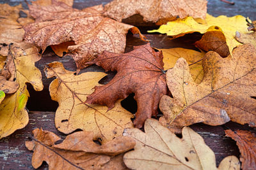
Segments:
[[[186,59],[189,66],[193,80],[196,83],[200,83],[204,77],[204,71],[202,67],[202,60],[205,53],[197,52],[186,48],[170,48],[170,49],[157,49],[163,52],[164,70],[170,69],[175,66],[177,59],[180,57]],[[199,62],[198,62],[199,61]],[[195,63],[195,64],[194,64]]]

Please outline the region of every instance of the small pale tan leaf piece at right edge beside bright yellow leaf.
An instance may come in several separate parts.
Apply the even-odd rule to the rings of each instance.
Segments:
[[[256,48],[256,20],[250,23],[250,27],[248,27],[249,31],[253,31],[247,34],[243,34],[239,31],[236,32],[236,39],[240,43],[247,44],[250,43]]]

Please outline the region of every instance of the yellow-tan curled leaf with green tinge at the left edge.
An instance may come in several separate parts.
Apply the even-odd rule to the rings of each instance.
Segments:
[[[28,111],[25,106],[29,93],[26,83],[31,83],[37,91],[43,89],[42,75],[35,67],[35,62],[40,59],[37,48],[29,45],[9,47],[4,69],[10,73],[8,80],[18,83],[19,89],[14,94],[6,94],[0,104],[0,138],[28,124]]]

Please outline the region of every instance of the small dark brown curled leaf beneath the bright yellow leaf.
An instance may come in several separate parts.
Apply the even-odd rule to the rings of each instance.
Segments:
[[[195,45],[206,52],[214,51],[221,57],[230,55],[225,35],[219,27],[210,27],[207,32],[204,33],[202,38],[195,42]]]

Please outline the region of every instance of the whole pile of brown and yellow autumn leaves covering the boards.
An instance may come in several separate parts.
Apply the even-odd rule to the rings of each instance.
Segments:
[[[1,4],[0,138],[28,124],[26,83],[43,89],[35,62],[51,46],[60,57],[72,56],[77,66],[76,74],[61,62],[44,69],[47,78],[56,78],[49,87],[59,103],[56,128],[69,135],[57,145],[56,134],[35,129],[32,141],[26,141],[33,167],[45,161],[49,169],[240,169],[234,156],[217,168],[214,152],[188,126],[231,120],[256,127],[256,22],[239,15],[212,17],[205,0],[114,0],[83,10],[72,4],[39,0],[28,4],[29,11]],[[124,53],[128,31],[147,41],[137,27],[122,23],[134,14],[164,24],[148,32],[172,39],[200,32],[195,43],[200,52],[147,43]],[[78,74],[92,64],[116,71],[115,77],[100,85],[105,73]],[[120,104],[132,93],[138,104],[133,122],[134,115]],[[152,119],[159,110],[163,117]],[[242,169],[256,169],[255,134],[226,133],[237,141]]]

